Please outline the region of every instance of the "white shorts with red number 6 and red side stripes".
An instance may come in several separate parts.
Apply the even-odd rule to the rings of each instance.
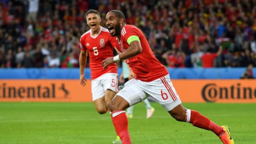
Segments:
[[[169,74],[150,82],[131,79],[124,84],[124,88],[116,95],[123,97],[130,106],[152,96],[158,100],[166,111],[170,111],[181,104],[180,97],[172,85]]]

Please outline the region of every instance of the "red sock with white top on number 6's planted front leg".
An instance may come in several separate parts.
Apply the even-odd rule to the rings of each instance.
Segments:
[[[122,140],[122,144],[131,144],[126,112],[124,110],[113,111],[112,117],[114,127]]]

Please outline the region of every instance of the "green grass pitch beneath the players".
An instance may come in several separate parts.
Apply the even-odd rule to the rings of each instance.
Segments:
[[[146,119],[143,103],[128,119],[133,144],[221,144],[214,133],[177,122],[158,103]],[[219,125],[228,125],[235,144],[256,143],[256,104],[185,103]],[[93,103],[0,103],[0,144],[111,144],[116,133],[110,114]]]

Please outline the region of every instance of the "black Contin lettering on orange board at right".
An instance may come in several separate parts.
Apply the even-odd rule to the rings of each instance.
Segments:
[[[242,86],[240,83],[227,86],[218,86],[215,83],[209,83],[203,86],[202,97],[207,102],[217,100],[251,100],[256,99],[256,87]]]

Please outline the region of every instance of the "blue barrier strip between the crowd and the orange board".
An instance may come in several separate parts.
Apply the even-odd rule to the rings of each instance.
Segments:
[[[246,68],[167,68],[171,79],[239,79]],[[122,69],[118,69],[118,74]],[[256,68],[253,69],[256,74]],[[85,69],[86,79],[91,71]],[[0,69],[0,79],[79,79],[79,69]]]

